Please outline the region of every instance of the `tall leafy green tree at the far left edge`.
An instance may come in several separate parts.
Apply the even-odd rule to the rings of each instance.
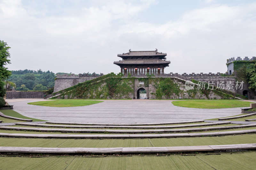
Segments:
[[[4,80],[6,80],[9,76],[12,75],[12,72],[7,70],[8,68],[5,67],[7,64],[11,64],[10,60],[8,59],[10,57],[9,53],[9,47],[6,42],[3,40],[0,40],[0,96],[3,97],[5,94],[5,83]]]

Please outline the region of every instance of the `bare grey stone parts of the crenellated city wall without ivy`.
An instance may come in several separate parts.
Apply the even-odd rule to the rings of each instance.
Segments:
[[[135,76],[137,78],[148,78],[146,75],[132,75],[132,76]],[[86,78],[88,77],[88,78]],[[123,78],[126,78],[127,75],[123,76]],[[244,83],[243,84],[243,89],[236,89],[235,88],[235,85],[236,85],[236,77],[234,76],[222,76],[220,73],[217,73],[217,74],[214,74],[214,73],[208,73],[208,74],[205,74],[205,73],[200,73],[200,74],[195,74],[195,73],[192,73],[192,74],[187,74],[187,73],[183,73],[183,74],[178,74],[178,73],[169,73],[169,74],[160,74],[160,75],[154,75],[154,77],[163,77],[163,78],[180,78],[180,79],[183,79],[183,80],[196,80],[196,81],[204,81],[206,83],[208,83],[208,81],[210,81],[210,83],[214,83],[215,86],[217,86],[217,82],[219,81],[220,82],[224,82],[223,84],[225,84],[225,87],[224,89],[226,90],[229,90],[229,91],[232,91],[232,92],[235,92],[235,93],[238,93],[239,95],[244,95],[243,92],[244,90],[246,90],[247,94],[248,94],[248,97],[249,99],[253,98],[253,96],[255,96],[255,92],[253,90],[250,90],[248,89],[249,87],[249,84],[248,83]],[[76,84],[78,84],[79,82],[84,82],[84,81],[88,81],[88,80],[91,80],[91,79],[94,79],[96,78],[95,75],[94,77],[93,76],[88,76],[88,75],[84,75],[84,74],[79,74],[79,75],[75,75],[75,74],[62,74],[62,75],[58,75],[57,74],[57,78],[55,80],[55,86],[54,86],[54,92],[58,92],[60,90],[63,90],[63,89],[66,89],[66,88],[69,88],[69,87],[72,87]],[[234,88],[230,88],[230,89],[227,89],[226,86],[228,83],[234,83]],[[241,82],[239,82],[239,85],[240,85]],[[134,82],[134,93],[133,93],[133,98],[136,99],[137,98],[137,91],[138,89],[140,88],[144,88],[146,89],[147,91],[147,97],[148,98],[151,98],[150,97],[150,89],[153,90],[152,88],[152,85],[148,85],[147,87],[142,87],[143,85],[140,85],[139,84],[139,81],[138,79],[135,79],[135,82]]]

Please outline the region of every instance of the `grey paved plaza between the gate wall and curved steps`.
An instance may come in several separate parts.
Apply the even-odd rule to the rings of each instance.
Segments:
[[[174,106],[172,100],[102,100],[79,107],[47,107],[27,104],[44,99],[8,99],[14,111],[49,121],[83,123],[166,123],[203,120],[241,114],[240,108],[195,109]]]

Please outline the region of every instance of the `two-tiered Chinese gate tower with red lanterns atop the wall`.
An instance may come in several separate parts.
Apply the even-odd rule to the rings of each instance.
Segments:
[[[164,67],[169,67],[170,61],[166,61],[166,53],[156,51],[131,51],[118,54],[123,60],[115,61],[114,64],[121,67],[124,75],[130,73],[133,76],[145,74],[162,74]]]

